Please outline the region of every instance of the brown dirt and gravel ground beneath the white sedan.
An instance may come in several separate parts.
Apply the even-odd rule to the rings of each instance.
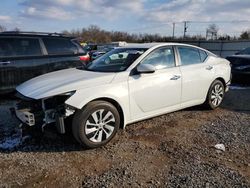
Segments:
[[[53,129],[21,140],[14,103],[0,102],[0,187],[250,187],[250,89],[233,88],[214,111],[129,125],[94,150]]]

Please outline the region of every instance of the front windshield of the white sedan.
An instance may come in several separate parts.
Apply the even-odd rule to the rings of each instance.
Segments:
[[[121,72],[126,70],[146,48],[117,48],[97,58],[86,66],[97,72]]]

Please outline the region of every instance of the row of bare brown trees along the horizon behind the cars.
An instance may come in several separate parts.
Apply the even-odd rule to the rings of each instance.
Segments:
[[[220,40],[237,40],[239,37],[222,35],[218,36],[219,27],[216,24],[211,24],[207,28],[206,38],[203,35],[186,35],[185,40],[196,41],[205,39],[220,39]],[[114,41],[126,42],[168,42],[173,41],[172,36],[162,36],[159,34],[149,33],[128,33],[123,31],[107,31],[96,25],[91,25],[87,28],[73,29],[71,31],[64,30],[62,33],[76,37],[83,43],[110,43]],[[250,39],[250,30],[243,31],[240,39]],[[174,41],[182,41],[182,36],[175,37]]]

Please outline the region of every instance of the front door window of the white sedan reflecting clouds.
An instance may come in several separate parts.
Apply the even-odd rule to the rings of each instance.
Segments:
[[[145,59],[142,60],[142,64],[151,64],[156,69],[164,69],[175,66],[175,58],[173,48],[160,48],[151,52]]]

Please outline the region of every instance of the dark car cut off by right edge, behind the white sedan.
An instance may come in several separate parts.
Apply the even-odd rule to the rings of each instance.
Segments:
[[[232,82],[250,84],[250,47],[226,59],[232,65]]]

